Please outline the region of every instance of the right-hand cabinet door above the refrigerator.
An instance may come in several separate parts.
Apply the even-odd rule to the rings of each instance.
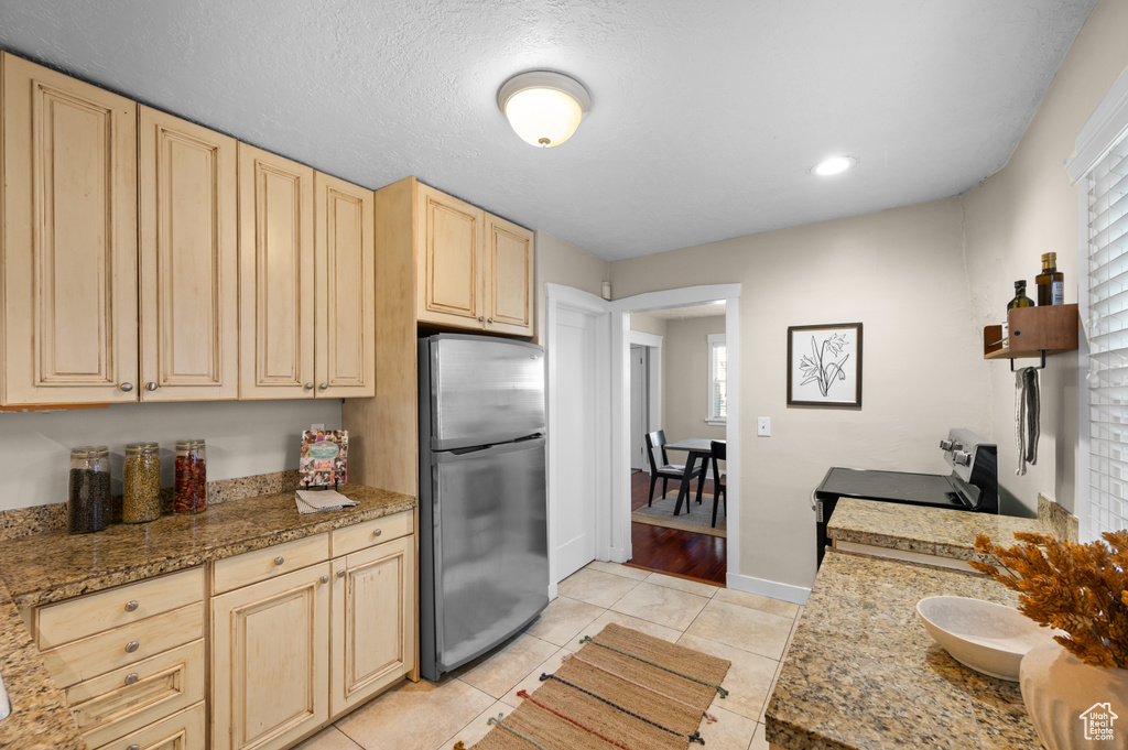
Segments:
[[[486,214],[486,330],[532,335],[532,232]]]

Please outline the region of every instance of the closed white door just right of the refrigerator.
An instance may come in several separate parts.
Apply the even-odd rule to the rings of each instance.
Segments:
[[[556,530],[556,580],[562,581],[596,559],[598,484],[593,436],[603,425],[597,412],[597,315],[562,306],[552,334],[556,339],[556,420],[549,429],[554,445],[553,522]]]

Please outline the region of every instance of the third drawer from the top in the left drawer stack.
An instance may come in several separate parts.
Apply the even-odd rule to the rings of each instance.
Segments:
[[[202,639],[67,689],[67,703],[91,748],[203,699]]]

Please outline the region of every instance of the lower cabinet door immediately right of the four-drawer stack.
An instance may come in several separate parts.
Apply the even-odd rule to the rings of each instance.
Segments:
[[[329,570],[212,598],[212,750],[284,748],[328,718]]]

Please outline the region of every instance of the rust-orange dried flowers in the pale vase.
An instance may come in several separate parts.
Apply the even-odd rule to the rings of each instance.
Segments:
[[[976,537],[985,562],[971,566],[1017,591],[1023,615],[1068,634],[1054,639],[1086,664],[1128,669],[1128,531],[1084,545],[1045,533],[1014,537],[1022,544]]]

